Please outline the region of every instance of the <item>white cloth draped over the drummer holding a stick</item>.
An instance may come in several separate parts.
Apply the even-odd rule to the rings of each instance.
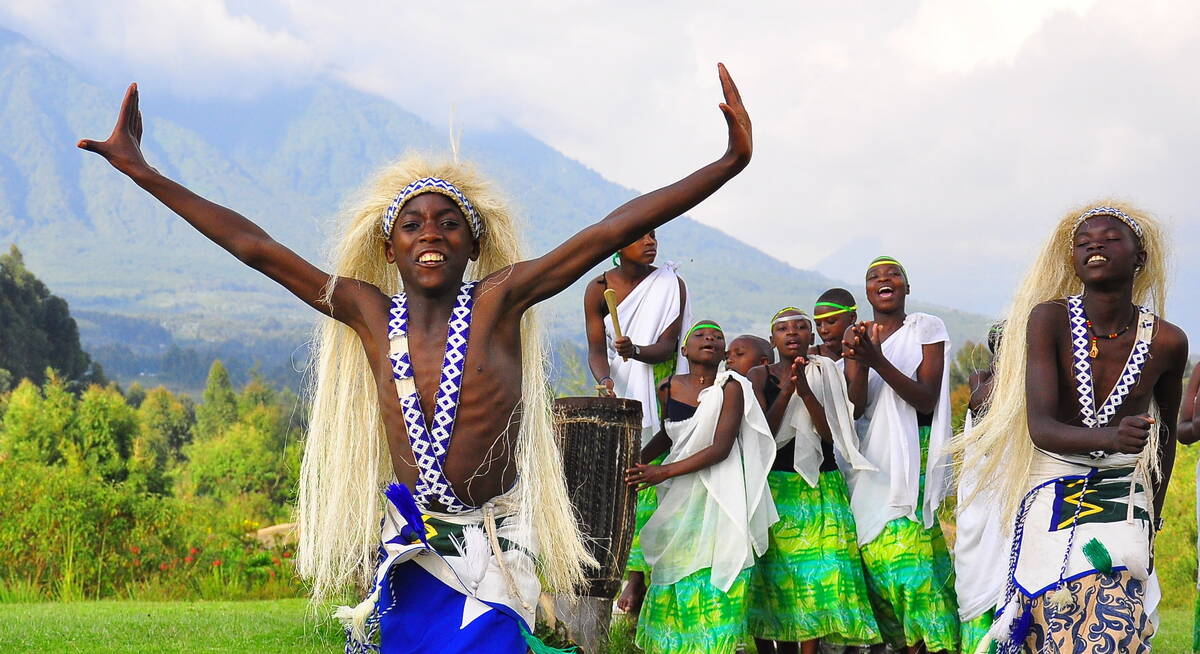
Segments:
[[[629,295],[617,305],[617,317],[624,336],[647,346],[658,342],[659,336],[679,316],[679,276],[678,264],[667,262],[654,269],[642,280]],[[679,337],[691,320],[691,300],[683,307],[679,319]],[[617,397],[628,397],[642,403],[642,445],[649,443],[660,427],[658,397],[654,386],[654,366],[632,359],[622,360],[613,346],[616,335],[612,331],[612,316],[604,317],[605,341],[608,347],[608,376],[612,377],[613,392]],[[676,373],[688,372],[688,360],[679,355],[676,348]]]

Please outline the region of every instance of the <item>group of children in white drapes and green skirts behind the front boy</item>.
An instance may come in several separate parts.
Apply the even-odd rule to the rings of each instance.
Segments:
[[[833,288],[811,314],[775,312],[769,338],[726,342],[713,320],[680,334],[685,286],[674,266],[652,265],[655,252],[653,234],[623,248],[584,298],[596,380],[641,400],[648,424],[661,418],[626,476],[638,530],[618,606],[637,616],[638,646],[720,653],[752,637],[760,653],[812,653],[821,641],[959,650],[937,521],[946,461],[929,456],[950,437],[949,338],[938,318],[906,312],[904,266],[868,265],[870,322]],[[659,283],[666,310],[647,312],[649,294],[625,290],[640,278]],[[619,338],[605,288],[630,325]],[[660,332],[644,330],[647,313]],[[678,338],[676,370],[673,348],[638,347],[629,330]],[[624,382],[631,367],[655,383]]]

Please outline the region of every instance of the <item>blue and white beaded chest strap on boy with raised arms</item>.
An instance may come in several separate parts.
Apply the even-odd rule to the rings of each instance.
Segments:
[[[467,359],[467,338],[470,336],[470,310],[474,304],[472,289],[475,282],[462,284],[450,324],[446,329],[446,353],[442,361],[442,377],[433,407],[433,427],[425,424],[421,398],[413,378],[413,361],[408,354],[408,296],[400,293],[391,299],[391,320],[388,322],[388,338],[391,342],[388,358],[391,374],[396,380],[396,392],[404,414],[408,444],[416,460],[416,502],[425,508],[431,499],[437,500],[450,514],[473,510],[455,494],[443,472],[454,419],[458,412],[462,392],[463,364]]]

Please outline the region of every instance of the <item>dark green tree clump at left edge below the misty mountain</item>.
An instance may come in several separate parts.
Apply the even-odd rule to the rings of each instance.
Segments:
[[[79,344],[79,329],[67,302],[25,268],[25,259],[14,245],[7,254],[0,254],[4,383],[7,386],[14,379],[28,378],[40,384],[48,367],[71,382],[104,383],[103,372]]]

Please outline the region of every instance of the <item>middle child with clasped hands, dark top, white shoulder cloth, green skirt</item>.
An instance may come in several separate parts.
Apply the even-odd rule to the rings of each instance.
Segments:
[[[760,654],[815,654],[818,641],[880,640],[863,580],[854,516],[834,451],[870,469],[858,451],[846,378],[838,365],[806,354],[812,324],[796,307],[775,313],[770,342],[779,362],[750,371],[775,438],[768,476],[779,511],[770,546],[750,583],[750,635]]]

